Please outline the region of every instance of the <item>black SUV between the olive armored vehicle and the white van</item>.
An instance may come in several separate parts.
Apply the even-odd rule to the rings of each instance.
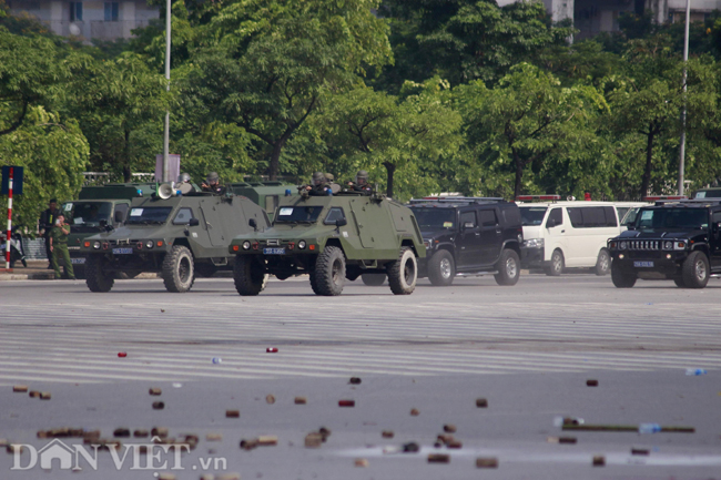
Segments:
[[[450,285],[456,275],[495,274],[498,285],[516,285],[524,231],[518,205],[501,198],[412,200],[426,258],[418,276]]]

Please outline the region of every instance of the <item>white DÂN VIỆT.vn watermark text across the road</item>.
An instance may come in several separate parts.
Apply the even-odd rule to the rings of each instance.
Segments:
[[[102,455],[106,448],[110,462]],[[32,470],[34,468],[61,470],[83,470],[115,468],[116,470],[226,470],[227,461],[222,457],[199,458],[197,463],[183,466],[183,453],[191,451],[189,443],[162,443],[153,437],[149,443],[125,445],[68,445],[54,439],[37,449],[31,445],[16,445],[10,470]],[[100,464],[102,460],[103,464]]]

